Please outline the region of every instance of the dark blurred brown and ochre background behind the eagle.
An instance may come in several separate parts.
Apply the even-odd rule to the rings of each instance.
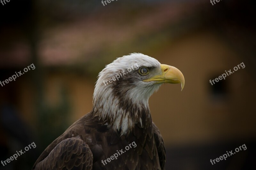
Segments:
[[[180,85],[164,84],[149,100],[165,142],[166,170],[255,170],[255,5],[215,3],[0,3],[0,81],[35,66],[0,86],[0,160],[36,144],[0,169],[31,169],[55,138],[91,111],[104,66],[140,52],[177,67],[186,80],[182,92]],[[245,68],[211,85],[242,62]],[[246,150],[210,163],[243,144]]]

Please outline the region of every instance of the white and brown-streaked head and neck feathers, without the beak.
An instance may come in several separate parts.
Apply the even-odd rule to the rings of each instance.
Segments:
[[[112,122],[114,129],[121,130],[121,134],[129,132],[129,129],[132,129],[136,123],[141,124],[139,111],[131,113],[131,110],[125,108],[127,108],[127,105],[134,105],[149,111],[148,99],[159,89],[161,84],[142,81],[138,72],[142,66],[160,68],[160,65],[155,58],[141,53],[132,53],[117,58],[108,64],[99,73],[98,81],[95,85],[93,93],[94,114],[97,114],[102,120],[107,119]],[[123,72],[125,75],[123,75]],[[119,80],[115,80],[118,75],[120,77]],[[113,77],[115,78],[112,79]],[[112,79],[112,82],[109,82],[109,79]],[[124,104],[125,107],[120,105],[120,103],[124,102],[120,101],[120,98],[128,102]],[[130,120],[131,114],[135,120]],[[150,112],[148,112],[147,117],[149,118],[149,116]]]

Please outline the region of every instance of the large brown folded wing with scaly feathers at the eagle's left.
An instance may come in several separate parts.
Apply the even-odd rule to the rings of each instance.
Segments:
[[[92,170],[92,151],[80,138],[53,141],[36,160],[32,170],[79,169]],[[60,141],[60,142],[59,142]]]

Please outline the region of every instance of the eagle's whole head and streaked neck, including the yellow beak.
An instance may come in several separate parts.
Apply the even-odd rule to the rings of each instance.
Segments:
[[[93,114],[121,135],[145,128],[152,123],[148,99],[163,83],[181,83],[182,90],[185,80],[177,68],[141,53],[117,58],[99,73]]]

